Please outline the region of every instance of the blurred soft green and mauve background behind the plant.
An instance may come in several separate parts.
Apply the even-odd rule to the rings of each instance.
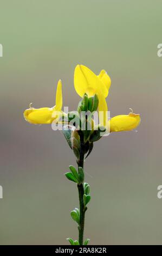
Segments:
[[[60,131],[23,119],[30,102],[54,105],[59,78],[63,105],[76,108],[77,64],[111,76],[111,116],[132,107],[142,120],[138,132],[101,139],[86,160],[92,200],[85,239],[92,245],[161,243],[161,8],[160,0],[1,0],[1,245],[77,239],[70,218],[77,188],[64,177],[75,157]]]

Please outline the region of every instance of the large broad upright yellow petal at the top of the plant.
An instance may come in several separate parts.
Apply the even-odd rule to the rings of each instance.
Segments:
[[[102,92],[107,93],[106,86],[102,83],[98,76],[92,72],[87,66],[77,65],[74,71],[74,87],[76,93],[81,97],[87,93],[88,97]]]

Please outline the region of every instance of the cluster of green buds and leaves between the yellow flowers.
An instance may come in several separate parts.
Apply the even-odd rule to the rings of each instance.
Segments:
[[[92,117],[94,111],[98,109],[98,105],[99,99],[96,94],[92,97],[88,97],[87,94],[85,94],[79,102],[77,111],[72,111],[67,114],[69,125],[65,125],[62,132],[70,148],[72,148],[77,161],[80,160],[81,150],[83,154],[87,154],[86,157],[88,157],[92,152],[93,143],[102,137],[102,133],[106,132],[106,128],[100,125],[94,129]],[[83,137],[82,143],[81,137]]]

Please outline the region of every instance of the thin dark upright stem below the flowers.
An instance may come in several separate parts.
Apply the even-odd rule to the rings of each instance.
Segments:
[[[83,168],[85,154],[83,153],[84,144],[83,144],[82,136],[80,136],[80,139],[81,139],[80,160],[77,162],[77,164],[78,164],[78,167]],[[83,194],[84,194],[83,184],[82,183],[77,184],[77,188],[78,188],[78,192],[79,192],[79,204],[80,204],[80,223],[79,223],[79,227],[78,227],[78,229],[79,229],[79,244],[83,245],[83,233],[84,233],[84,227],[85,227],[85,212],[86,212],[87,208],[85,208],[84,202],[83,202]]]

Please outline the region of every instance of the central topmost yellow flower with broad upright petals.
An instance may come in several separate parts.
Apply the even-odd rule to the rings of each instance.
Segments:
[[[106,125],[107,120],[107,103],[106,97],[108,95],[108,90],[111,86],[111,78],[107,75],[105,70],[101,70],[100,74],[97,76],[88,69],[87,66],[77,65],[74,71],[74,87],[76,93],[81,97],[86,93],[88,97],[94,96],[95,94],[99,98],[99,114],[100,123]]]

